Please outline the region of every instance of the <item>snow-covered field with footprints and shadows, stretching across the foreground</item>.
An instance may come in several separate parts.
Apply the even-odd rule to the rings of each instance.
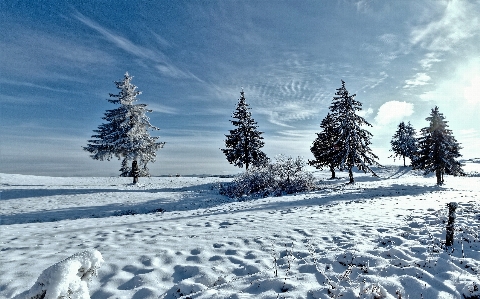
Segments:
[[[25,298],[43,270],[96,249],[94,299],[480,298],[480,177],[378,174],[317,172],[317,191],[241,202],[218,177],[0,174],[0,297]]]

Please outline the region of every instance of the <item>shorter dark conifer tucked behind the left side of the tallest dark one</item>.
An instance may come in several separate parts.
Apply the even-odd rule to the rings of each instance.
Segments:
[[[332,173],[332,179],[335,178],[335,168],[339,166],[337,154],[342,147],[339,144],[338,137],[338,125],[334,122],[334,119],[330,113],[320,123],[322,129],[320,133],[317,133],[317,138],[313,141],[313,145],[310,148],[315,160],[309,160],[308,164],[314,166],[317,169],[323,169],[328,167]]]

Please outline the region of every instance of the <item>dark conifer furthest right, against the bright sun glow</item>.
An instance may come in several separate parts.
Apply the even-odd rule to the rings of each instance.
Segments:
[[[432,109],[426,118],[430,125],[421,130],[418,139],[418,152],[412,161],[414,169],[424,170],[425,174],[435,172],[437,185],[443,184],[443,174],[463,174],[462,164],[456,160],[461,157],[460,144],[448,129],[447,121],[438,107]]]

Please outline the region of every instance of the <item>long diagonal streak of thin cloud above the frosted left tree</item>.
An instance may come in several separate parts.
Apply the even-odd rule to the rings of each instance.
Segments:
[[[159,71],[161,74],[167,77],[172,78],[181,78],[181,79],[195,79],[197,81],[203,82],[200,78],[189,72],[188,70],[182,70],[177,67],[163,52],[160,50],[152,50],[142,46],[138,46],[129,39],[115,34],[111,30],[101,26],[97,22],[87,18],[83,14],[77,12],[74,14],[74,17],[87,25],[88,27],[94,29],[100,33],[105,39],[113,43],[118,48],[136,56],[137,58],[147,60],[153,63],[154,68]],[[156,40],[162,45],[170,45],[168,41],[163,39],[158,34],[154,35]],[[147,64],[148,65],[148,64]]]

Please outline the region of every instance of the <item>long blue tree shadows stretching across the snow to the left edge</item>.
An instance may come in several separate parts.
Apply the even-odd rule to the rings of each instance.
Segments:
[[[375,178],[378,179],[378,178]],[[371,180],[371,178],[368,178]],[[363,181],[363,180],[362,180]],[[158,193],[159,198],[145,202],[116,202],[102,206],[77,206],[65,209],[34,211],[12,215],[1,215],[0,225],[36,223],[36,222],[52,222],[61,220],[75,220],[83,218],[104,218],[112,216],[150,214],[158,212],[174,212],[174,211],[192,211],[197,209],[205,209],[198,216],[207,216],[214,214],[227,214],[235,212],[247,212],[258,210],[282,210],[291,207],[307,207],[315,205],[327,205],[332,202],[353,202],[358,200],[368,200],[376,198],[386,198],[392,196],[418,196],[421,194],[440,191],[437,186],[411,186],[393,184],[388,187],[377,187],[365,189],[356,187],[356,185],[344,185],[338,183],[334,185],[323,185],[321,190],[300,193],[297,195],[286,195],[280,200],[274,200],[266,203],[252,204],[252,207],[245,207],[235,199],[228,198],[218,194],[215,184],[203,184],[181,188],[162,188],[162,189],[145,189],[145,190],[118,190],[118,189],[52,189],[52,190],[4,190],[2,200],[44,197],[57,195],[74,195],[74,194],[97,194],[105,192],[121,192],[121,193]],[[162,193],[178,193],[177,198],[170,196],[162,197]],[[23,195],[22,195],[23,194]],[[34,196],[34,194],[36,194]],[[140,195],[141,196],[141,195]],[[250,200],[255,202],[256,199]],[[208,211],[210,208],[220,207],[228,203],[242,204],[242,208],[230,207],[222,208],[216,211]],[[189,215],[188,217],[195,217]]]

